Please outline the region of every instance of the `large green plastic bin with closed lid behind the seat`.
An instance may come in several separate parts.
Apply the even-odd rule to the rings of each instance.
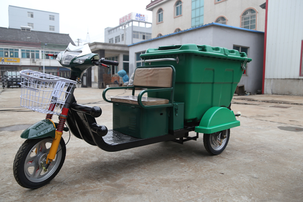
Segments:
[[[200,121],[211,107],[228,107],[251,59],[234,49],[210,45],[172,45],[148,48],[140,55],[148,65],[172,65],[176,69],[176,102],[184,103],[184,121]],[[159,59],[177,59],[165,61]],[[243,65],[244,64],[244,65]],[[169,93],[148,93],[149,97],[166,98]]]

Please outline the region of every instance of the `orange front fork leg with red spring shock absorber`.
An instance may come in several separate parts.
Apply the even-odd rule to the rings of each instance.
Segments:
[[[47,158],[46,158],[45,168],[42,165],[44,171],[47,170],[48,166],[52,163],[52,161],[56,157],[58,147],[59,147],[59,144],[60,144],[60,141],[61,141],[61,137],[62,137],[62,134],[63,134],[64,125],[65,125],[66,119],[68,117],[68,111],[69,111],[69,107],[71,105],[71,101],[72,101],[72,98],[73,98],[74,89],[75,88],[73,87],[71,89],[70,94],[68,94],[68,96],[66,97],[65,105],[62,108],[61,114],[59,115],[59,123],[58,123],[57,128],[56,128],[56,135],[55,135],[55,138],[53,139],[51,148],[49,149],[49,153],[48,153]],[[52,109],[54,109],[54,107],[51,105],[51,106],[49,106],[49,109],[52,110]],[[53,118],[52,114],[47,114],[46,117],[45,117],[45,119],[49,119],[49,120],[51,120],[52,118]]]

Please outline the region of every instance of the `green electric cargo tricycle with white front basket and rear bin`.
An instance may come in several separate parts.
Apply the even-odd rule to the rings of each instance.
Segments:
[[[208,153],[219,155],[227,146],[230,128],[240,125],[236,120],[240,114],[231,111],[230,103],[251,61],[245,53],[195,44],[148,48],[140,55],[145,66],[135,69],[132,86],[103,91],[103,99],[113,104],[111,130],[96,123],[102,109],[78,104],[74,90],[87,68],[118,66],[118,62],[100,59],[87,44],[69,44],[64,52],[48,56],[57,58],[71,75],[65,79],[31,70],[20,72],[21,106],[46,114],[21,134],[26,140],[16,154],[13,171],[25,188],[44,186],[58,174],[66,156],[63,131],[106,151],[168,140],[183,144],[204,133]],[[115,89],[131,89],[132,95],[107,98],[106,93]],[[191,131],[194,136],[189,136]]]

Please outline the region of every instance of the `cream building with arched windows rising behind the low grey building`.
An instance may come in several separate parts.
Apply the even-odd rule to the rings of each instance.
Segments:
[[[146,6],[153,12],[151,37],[217,22],[234,27],[264,31],[265,0],[155,0]]]

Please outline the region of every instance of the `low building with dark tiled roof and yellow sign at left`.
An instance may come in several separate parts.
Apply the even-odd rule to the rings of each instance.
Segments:
[[[0,69],[5,71],[34,70],[68,77],[70,70],[62,67],[55,58],[45,54],[58,54],[69,43],[74,44],[68,34],[23,31],[0,27]]]

